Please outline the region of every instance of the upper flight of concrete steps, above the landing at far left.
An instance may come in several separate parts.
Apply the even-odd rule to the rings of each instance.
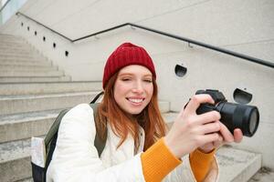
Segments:
[[[0,35],[0,83],[69,81],[57,66],[25,40]]]

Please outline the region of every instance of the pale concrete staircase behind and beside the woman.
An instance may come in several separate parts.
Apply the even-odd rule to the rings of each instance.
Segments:
[[[101,82],[72,82],[20,37],[0,35],[0,181],[32,181],[30,137],[44,136],[62,108],[88,103]],[[176,113],[160,102],[171,126]],[[219,181],[248,181],[261,167],[258,154],[222,147]]]

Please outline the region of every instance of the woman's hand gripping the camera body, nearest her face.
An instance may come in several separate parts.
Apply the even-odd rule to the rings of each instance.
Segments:
[[[214,104],[214,100],[207,94],[193,96],[174,120],[168,134],[164,136],[165,145],[175,157],[184,157],[197,147],[222,140],[222,136],[218,134],[221,128],[218,122],[220,114],[217,111],[210,111],[197,115],[196,109],[202,103]]]

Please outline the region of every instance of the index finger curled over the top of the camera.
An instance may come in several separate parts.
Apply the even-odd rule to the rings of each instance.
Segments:
[[[195,95],[193,96],[188,105],[185,107],[184,111],[192,113],[197,110],[197,108],[200,106],[202,103],[211,103],[214,104],[213,98],[208,95],[208,94],[200,94],[200,95]]]

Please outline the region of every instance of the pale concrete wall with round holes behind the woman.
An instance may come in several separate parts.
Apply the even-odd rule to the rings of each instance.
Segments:
[[[71,39],[131,22],[273,63],[273,9],[272,0],[28,0],[20,11]],[[246,88],[253,94],[250,104],[259,108],[260,125],[254,137],[245,137],[237,147],[262,153],[264,166],[274,168],[273,68],[131,27],[71,44],[22,16],[14,16],[0,32],[26,37],[73,80],[100,80],[105,60],[117,45],[124,41],[143,45],[157,68],[160,98],[170,101],[174,111],[179,111],[197,89],[219,89],[232,102],[233,91]],[[186,76],[175,76],[176,64],[188,68]]]

